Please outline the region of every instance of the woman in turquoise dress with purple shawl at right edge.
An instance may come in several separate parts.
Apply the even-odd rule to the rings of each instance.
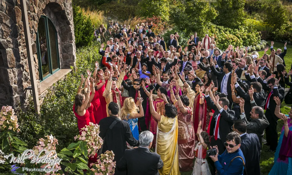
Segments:
[[[292,108],[288,115],[280,113],[281,102],[278,97],[274,97],[277,107],[275,115],[284,121],[278,146],[275,152],[274,165],[269,175],[292,175]]]

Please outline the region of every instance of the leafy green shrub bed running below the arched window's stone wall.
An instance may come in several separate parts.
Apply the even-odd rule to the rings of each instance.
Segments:
[[[81,74],[94,71],[95,61],[100,60],[100,45],[77,49],[76,71],[67,74],[64,80],[55,83],[41,105],[41,115],[34,115],[34,104],[30,99],[27,111],[17,112],[20,132],[18,136],[32,148],[44,135],[54,135],[59,142],[57,150],[67,147],[78,132],[77,119],[73,113],[74,98]]]

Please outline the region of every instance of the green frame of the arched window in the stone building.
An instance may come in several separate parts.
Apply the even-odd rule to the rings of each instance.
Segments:
[[[42,18],[42,19],[41,19]],[[39,62],[39,79],[40,81],[44,81],[49,76],[53,75],[55,72],[60,70],[60,55],[59,55],[59,44],[58,44],[58,32],[53,24],[53,22],[45,15],[41,15],[39,21],[44,20],[44,29],[46,33],[46,46],[47,46],[47,61],[48,61],[48,75],[43,77],[43,71],[42,71],[42,64],[41,64],[41,49],[40,49],[40,43],[39,43],[39,28],[36,32],[36,50],[37,50],[37,57]],[[57,55],[57,68],[53,70],[52,66],[52,53],[51,53],[51,42],[50,42],[50,32],[49,32],[49,25],[53,28],[54,34],[55,34],[55,45],[56,45],[56,55]],[[52,35],[52,32],[51,32]]]

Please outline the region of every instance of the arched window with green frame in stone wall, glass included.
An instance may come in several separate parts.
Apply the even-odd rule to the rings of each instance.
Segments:
[[[60,69],[58,34],[53,22],[41,15],[36,33],[36,50],[41,81]]]

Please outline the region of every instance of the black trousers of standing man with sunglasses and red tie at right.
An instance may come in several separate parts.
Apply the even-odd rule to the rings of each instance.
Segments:
[[[275,118],[275,116],[272,114],[274,114],[274,111],[271,111],[270,109],[266,110],[265,116],[270,123],[269,126],[266,128],[266,139],[268,145],[270,145],[270,149],[276,150],[278,145],[278,118]]]

